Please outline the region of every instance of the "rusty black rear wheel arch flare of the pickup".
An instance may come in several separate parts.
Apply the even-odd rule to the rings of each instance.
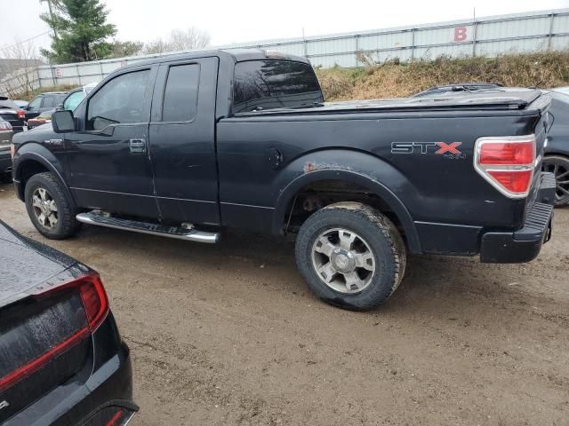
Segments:
[[[415,189],[396,168],[378,157],[358,151],[327,150],[303,155],[289,163],[277,182],[283,188],[276,200],[272,231],[279,233],[287,207],[302,187],[323,180],[338,180],[365,187],[381,198],[399,219],[411,253],[421,253],[413,218],[396,193],[413,196]]]

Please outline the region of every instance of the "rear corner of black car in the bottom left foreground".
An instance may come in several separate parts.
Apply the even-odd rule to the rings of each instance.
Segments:
[[[0,264],[0,424],[126,424],[131,361],[99,275],[1,221]]]

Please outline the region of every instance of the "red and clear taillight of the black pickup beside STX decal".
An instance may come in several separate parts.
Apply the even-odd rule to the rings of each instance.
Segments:
[[[535,169],[535,136],[478,138],[474,167],[498,191],[510,198],[524,198]]]

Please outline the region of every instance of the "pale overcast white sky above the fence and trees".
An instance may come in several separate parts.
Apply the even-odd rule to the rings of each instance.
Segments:
[[[569,0],[106,0],[116,38],[148,42],[174,28],[196,27],[212,45],[400,27],[442,20],[569,7]],[[0,48],[47,33],[39,0],[0,0]],[[49,47],[47,34],[34,38]]]

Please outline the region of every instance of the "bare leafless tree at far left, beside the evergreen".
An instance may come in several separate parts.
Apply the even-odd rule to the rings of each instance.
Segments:
[[[0,50],[4,91],[8,95],[17,95],[34,91],[39,82],[36,67],[43,64],[37,54],[36,46],[31,41],[16,42]]]

